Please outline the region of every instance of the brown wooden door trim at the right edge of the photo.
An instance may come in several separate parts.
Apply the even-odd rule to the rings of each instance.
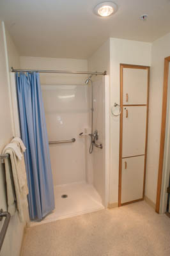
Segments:
[[[169,78],[169,62],[170,56],[164,59],[164,83],[163,83],[163,95],[162,95],[162,124],[160,133],[160,152],[159,152],[159,163],[158,163],[158,181],[157,181],[157,200],[156,209],[157,213],[160,212],[160,195],[162,190],[162,173],[164,165],[164,146],[166,136],[166,115],[167,115],[167,89],[168,89],[168,78]]]

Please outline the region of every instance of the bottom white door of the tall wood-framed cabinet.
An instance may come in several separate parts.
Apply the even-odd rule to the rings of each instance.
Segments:
[[[144,156],[122,159],[121,204],[143,198]]]

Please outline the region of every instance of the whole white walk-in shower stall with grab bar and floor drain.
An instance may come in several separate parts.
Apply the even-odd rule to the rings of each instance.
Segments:
[[[80,84],[56,79],[41,88],[55,198],[54,211],[41,223],[104,209],[109,195],[109,77],[89,76]]]

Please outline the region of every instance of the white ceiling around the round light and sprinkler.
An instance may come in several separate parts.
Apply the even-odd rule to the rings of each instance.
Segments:
[[[153,42],[170,32],[170,0],[113,1],[118,12],[100,18],[102,0],[0,0],[0,19],[20,56],[86,59],[109,37]]]

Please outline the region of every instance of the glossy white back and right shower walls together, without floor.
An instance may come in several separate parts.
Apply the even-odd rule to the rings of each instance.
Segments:
[[[91,83],[88,85],[42,85],[49,141],[74,143],[49,145],[54,186],[87,182],[93,184],[105,204],[105,77],[93,81],[93,132],[103,148],[93,147],[90,138],[79,133],[91,132]]]

